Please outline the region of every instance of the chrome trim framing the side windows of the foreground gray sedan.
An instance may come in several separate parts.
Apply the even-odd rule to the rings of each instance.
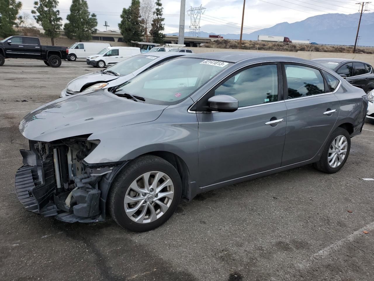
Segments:
[[[324,70],[324,69],[322,69],[322,68],[320,68],[320,67],[318,67],[318,66],[315,66],[315,65],[313,65],[313,64],[309,64],[309,63],[300,63],[299,61],[283,61],[283,60],[272,60],[272,61],[270,61],[270,60],[269,60],[269,61],[260,61],[260,62],[256,62],[256,63],[247,64],[247,65],[245,65],[245,66],[242,66],[242,67],[240,67],[240,68],[234,70],[233,72],[235,72],[235,71],[237,71],[237,70],[240,70],[240,69],[243,69],[243,68],[245,68],[245,67],[248,67],[248,66],[251,66],[251,65],[254,65],[254,64],[260,64],[260,63],[299,63],[299,64],[305,64],[305,65],[307,65],[307,66],[309,65],[309,66],[316,67],[316,68],[318,68],[319,70]],[[326,71],[326,70],[325,70],[325,71]],[[196,103],[198,103],[199,100],[202,99],[202,98],[203,98],[203,97],[204,97],[204,96],[205,96],[205,95],[206,95],[210,90],[212,90],[215,86],[217,86],[218,84],[220,84],[221,81],[223,81],[224,79],[226,79],[227,77],[229,77],[230,75],[232,75],[233,72],[229,73],[229,74],[226,75],[224,78],[222,78],[220,81],[218,81],[216,84],[214,84],[211,88],[209,88],[209,90],[206,91],[205,94],[203,94],[201,97],[199,97],[199,99],[197,99],[196,102],[194,102],[192,105],[190,105],[190,107],[188,107],[187,112],[188,112],[188,113],[205,113],[206,111],[191,111],[190,108],[193,107]],[[329,73],[329,72],[328,72],[328,73]],[[341,79],[341,76],[339,76],[340,78],[338,78],[338,77],[336,77],[336,76],[335,76],[334,74],[332,74],[332,73],[329,73],[329,74],[332,75],[332,76],[334,76],[335,78],[337,78],[337,79],[339,80],[339,84],[338,84],[338,86],[335,88],[334,91],[329,92],[329,93],[322,93],[322,94],[318,94],[318,95],[313,95],[313,96],[297,97],[297,98],[295,98],[295,99],[287,99],[287,100],[305,99],[305,98],[308,98],[308,97],[316,97],[316,96],[323,96],[323,95],[327,95],[327,94],[334,94],[334,93],[336,93],[336,92],[339,90],[340,86],[341,86],[341,80],[340,80],[340,79]],[[323,74],[322,74],[322,75],[323,75]],[[273,104],[273,103],[286,102],[287,100],[283,99],[283,100],[278,100],[278,101],[276,101],[276,102],[261,103],[261,104],[259,104],[259,105],[242,106],[242,107],[238,108],[238,110],[239,110],[239,109],[243,109],[243,108],[251,108],[251,107],[255,107],[255,106],[269,105],[269,104]],[[211,112],[209,112],[209,113],[215,113],[215,112],[218,112],[218,111],[211,111]]]

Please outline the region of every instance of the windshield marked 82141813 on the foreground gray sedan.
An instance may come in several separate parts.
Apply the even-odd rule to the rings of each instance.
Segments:
[[[201,58],[177,58],[141,73],[115,93],[142,97],[146,103],[173,105],[189,97],[230,65]]]

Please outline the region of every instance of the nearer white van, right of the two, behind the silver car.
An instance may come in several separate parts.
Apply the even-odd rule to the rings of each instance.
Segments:
[[[88,57],[86,62],[95,67],[106,67],[138,54],[140,54],[140,48],[137,47],[108,47]]]

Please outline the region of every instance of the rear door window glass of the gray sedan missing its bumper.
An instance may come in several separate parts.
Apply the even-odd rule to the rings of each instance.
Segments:
[[[321,72],[312,67],[285,64],[288,99],[325,93]]]

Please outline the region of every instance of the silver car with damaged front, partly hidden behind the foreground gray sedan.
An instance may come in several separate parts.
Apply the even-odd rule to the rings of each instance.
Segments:
[[[61,91],[60,97],[121,85],[151,67],[182,55],[185,54],[157,52],[135,55],[104,70],[88,73],[71,80]]]

